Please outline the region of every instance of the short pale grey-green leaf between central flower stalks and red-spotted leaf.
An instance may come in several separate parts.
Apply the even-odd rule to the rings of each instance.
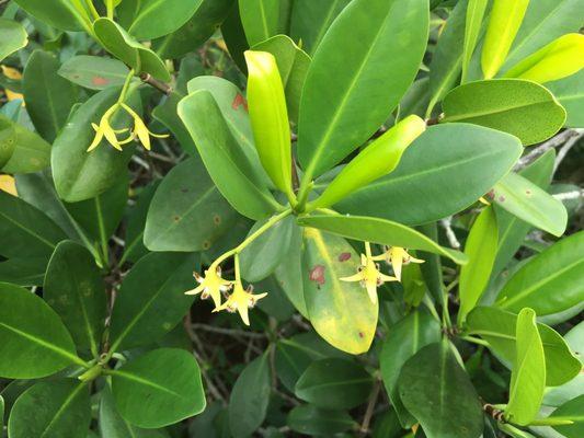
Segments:
[[[263,224],[265,221],[256,222],[248,235]],[[241,276],[248,281],[259,281],[271,275],[288,252],[295,227],[294,218],[288,217],[245,246],[240,254]]]

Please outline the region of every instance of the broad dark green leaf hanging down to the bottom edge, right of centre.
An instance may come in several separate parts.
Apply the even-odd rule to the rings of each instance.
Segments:
[[[412,356],[398,380],[400,397],[426,437],[478,438],[483,431],[479,395],[450,348],[443,341]]]

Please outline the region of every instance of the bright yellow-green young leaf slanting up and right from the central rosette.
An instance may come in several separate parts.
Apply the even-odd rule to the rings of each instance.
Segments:
[[[405,149],[425,129],[425,122],[415,115],[397,124],[355,157],[309,209],[336,204],[356,189],[393,171]]]

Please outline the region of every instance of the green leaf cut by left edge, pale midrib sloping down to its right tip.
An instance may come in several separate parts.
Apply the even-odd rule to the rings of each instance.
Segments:
[[[36,379],[84,365],[59,316],[28,290],[0,284],[0,376]]]

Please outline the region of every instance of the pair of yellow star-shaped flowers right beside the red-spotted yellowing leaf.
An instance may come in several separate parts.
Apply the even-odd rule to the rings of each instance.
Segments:
[[[377,261],[385,261],[393,268],[394,277],[381,273]],[[359,281],[367,289],[371,302],[377,302],[377,287],[383,283],[401,281],[402,266],[409,263],[424,263],[423,260],[411,256],[400,246],[386,246],[380,255],[371,255],[369,242],[365,242],[365,254],[360,255],[360,265],[357,274],[340,278],[342,281]]]

